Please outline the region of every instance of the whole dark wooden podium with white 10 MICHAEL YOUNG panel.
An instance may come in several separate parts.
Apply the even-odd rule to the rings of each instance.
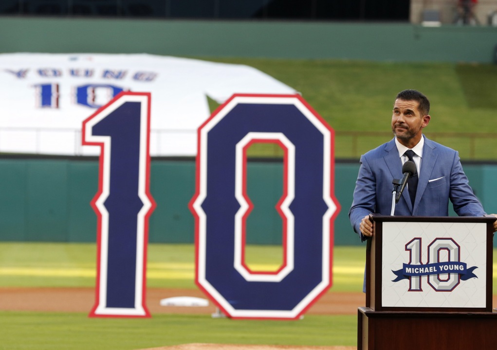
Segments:
[[[494,217],[371,215],[357,349],[497,349]]]

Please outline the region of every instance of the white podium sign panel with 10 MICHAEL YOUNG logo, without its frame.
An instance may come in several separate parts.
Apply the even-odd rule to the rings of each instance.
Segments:
[[[486,306],[486,224],[385,222],[382,306]]]

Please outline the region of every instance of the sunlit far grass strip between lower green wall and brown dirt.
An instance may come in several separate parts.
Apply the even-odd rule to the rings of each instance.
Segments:
[[[248,246],[249,266],[271,270],[281,264],[281,247]],[[333,290],[360,291],[364,248],[335,247]],[[149,244],[147,286],[196,288],[191,244]],[[0,287],[90,287],[95,285],[96,246],[90,243],[0,243]]]

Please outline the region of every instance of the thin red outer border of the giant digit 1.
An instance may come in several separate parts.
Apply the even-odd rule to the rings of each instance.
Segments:
[[[104,165],[104,143],[103,142],[89,142],[86,141],[86,123],[91,119],[96,117],[98,114],[103,112],[110,105],[115,103],[124,95],[136,95],[136,96],[147,96],[147,154],[146,154],[146,175],[145,175],[145,195],[150,201],[150,209],[144,216],[144,245],[143,245],[143,272],[142,272],[142,307],[145,311],[145,315],[100,315],[95,314],[95,310],[100,304],[100,254],[101,254],[101,236],[102,236],[102,214],[96,207],[96,201],[102,195],[103,192],[103,165]],[[83,121],[82,130],[82,144],[91,146],[100,146],[100,156],[98,159],[98,191],[90,202],[91,208],[95,211],[97,217],[97,266],[96,266],[96,285],[95,285],[95,304],[91,308],[88,317],[119,317],[119,318],[148,318],[151,317],[150,311],[146,305],[147,296],[147,248],[148,248],[148,236],[149,236],[149,218],[152,212],[155,210],[157,204],[150,193],[150,109],[151,109],[151,93],[150,92],[131,92],[131,91],[121,91],[112,100],[110,100],[104,106],[98,108],[95,113],[86,118]]]

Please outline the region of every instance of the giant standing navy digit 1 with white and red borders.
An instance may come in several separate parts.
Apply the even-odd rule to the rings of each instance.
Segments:
[[[150,93],[124,92],[83,122],[83,144],[100,146],[96,302],[90,316],[149,317],[145,305]]]

